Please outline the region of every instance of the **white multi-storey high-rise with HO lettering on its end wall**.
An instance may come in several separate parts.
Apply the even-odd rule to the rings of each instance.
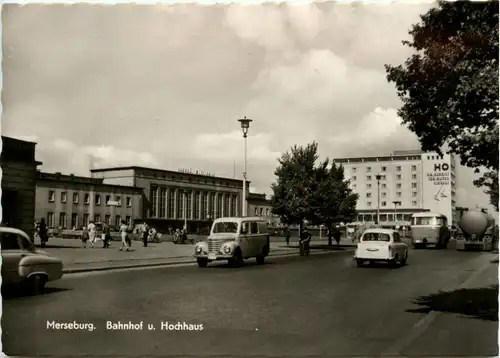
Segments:
[[[381,157],[334,159],[359,194],[359,221],[409,224],[411,215],[433,211],[456,223],[455,159],[422,151],[395,151]],[[378,180],[377,180],[378,178]],[[379,196],[380,193],[380,196]]]

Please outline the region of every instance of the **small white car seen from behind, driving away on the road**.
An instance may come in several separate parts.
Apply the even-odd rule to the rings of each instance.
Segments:
[[[358,243],[354,260],[358,267],[365,262],[387,262],[403,266],[408,260],[408,245],[395,230],[367,229]]]

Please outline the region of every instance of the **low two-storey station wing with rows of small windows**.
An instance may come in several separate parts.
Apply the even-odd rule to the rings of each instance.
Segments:
[[[134,225],[142,211],[142,189],[103,183],[102,179],[38,172],[36,220],[49,228],[81,229],[90,220],[119,227],[125,220]]]

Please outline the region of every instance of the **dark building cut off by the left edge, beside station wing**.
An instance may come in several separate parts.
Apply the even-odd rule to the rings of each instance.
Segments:
[[[35,233],[36,143],[2,136],[2,224]]]

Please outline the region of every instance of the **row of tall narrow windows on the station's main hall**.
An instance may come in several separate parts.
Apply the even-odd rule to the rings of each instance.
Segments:
[[[237,195],[151,187],[151,217],[204,220],[238,215]]]

